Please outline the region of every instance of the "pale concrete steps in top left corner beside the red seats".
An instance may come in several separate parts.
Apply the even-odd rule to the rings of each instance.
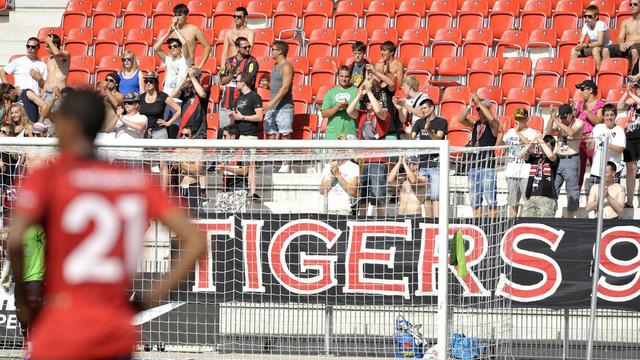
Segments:
[[[15,10],[0,16],[0,66],[11,55],[23,54],[25,43],[38,30],[60,26],[66,0],[15,0]]]

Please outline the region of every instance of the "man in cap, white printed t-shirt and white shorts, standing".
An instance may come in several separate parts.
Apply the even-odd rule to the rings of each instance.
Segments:
[[[507,168],[505,170],[507,178],[507,188],[509,190],[509,216],[518,215],[518,205],[524,198],[529,180],[529,164],[519,156],[522,148],[539,137],[540,133],[527,126],[529,121],[529,111],[524,108],[517,108],[513,113],[516,127],[509,129],[504,134],[502,141],[509,145],[507,149]]]

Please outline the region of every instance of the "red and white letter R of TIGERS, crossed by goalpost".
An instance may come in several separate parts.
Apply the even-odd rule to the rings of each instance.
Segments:
[[[418,289],[415,295],[437,296],[438,244],[436,238],[439,234],[438,225],[421,223],[420,229],[422,229],[422,244],[418,260]],[[479,264],[487,256],[487,235],[475,225],[451,224],[449,226],[449,239],[458,231],[462,233],[463,239],[469,244],[465,250],[467,276],[461,278],[458,275],[457,266],[449,265],[449,270],[462,285],[464,296],[491,296],[491,292],[482,285],[472,270],[475,265]]]

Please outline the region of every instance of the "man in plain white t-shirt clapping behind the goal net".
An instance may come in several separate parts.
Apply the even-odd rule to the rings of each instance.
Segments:
[[[338,140],[347,140],[347,135],[341,134]],[[351,205],[358,197],[359,175],[358,164],[348,159],[334,160],[324,167],[320,194],[327,196],[328,214],[351,214]]]

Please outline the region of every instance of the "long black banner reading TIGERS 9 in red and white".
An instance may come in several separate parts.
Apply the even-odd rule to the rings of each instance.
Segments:
[[[599,307],[640,310],[640,228],[605,222]],[[317,214],[202,220],[211,239],[189,297],[206,302],[435,304],[437,223]],[[450,267],[465,304],[511,298],[516,306],[588,307],[594,220],[519,219],[450,224],[462,231],[468,275]],[[509,274],[512,271],[512,274]]]

